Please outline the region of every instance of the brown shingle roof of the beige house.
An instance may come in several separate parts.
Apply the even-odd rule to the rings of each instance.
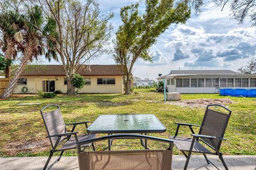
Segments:
[[[80,75],[123,75],[120,65],[82,65]],[[62,65],[28,65],[22,72],[25,75],[65,75]]]

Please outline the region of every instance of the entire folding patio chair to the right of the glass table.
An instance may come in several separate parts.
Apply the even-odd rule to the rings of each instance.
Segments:
[[[228,111],[228,114],[210,109],[209,107],[212,107],[212,106],[216,106],[219,108],[222,107]],[[185,155],[187,158],[184,169],[187,169],[188,167],[189,159],[192,152],[203,154],[207,164],[211,163],[213,166],[215,165],[212,162],[210,162],[210,160],[206,157],[205,154],[218,155],[225,169],[228,169],[226,163],[224,162],[222,154],[220,152],[220,147],[221,147],[222,140],[226,140],[224,138],[224,134],[228,125],[231,112],[232,111],[230,111],[230,109],[222,105],[209,105],[206,108],[203,122],[201,125],[176,123],[178,124],[177,130],[175,132],[174,137],[170,136],[170,139],[173,140],[174,146],[177,147],[183,153],[183,155]],[[188,126],[192,133],[191,135],[193,138],[177,137],[180,126]],[[195,134],[192,126],[200,127],[198,134]],[[211,148],[210,150],[212,151],[205,148],[199,142],[205,143],[205,145],[209,146]],[[188,155],[185,152],[188,152]],[[217,166],[215,167],[218,168]]]

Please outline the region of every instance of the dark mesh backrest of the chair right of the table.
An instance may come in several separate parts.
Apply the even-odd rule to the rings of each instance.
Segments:
[[[222,107],[228,111],[228,114],[221,113],[218,111],[214,111],[210,109],[209,107],[211,106],[217,106],[217,107]],[[201,128],[199,130],[199,134],[203,135],[210,135],[210,136],[215,136],[215,137],[224,137],[229,117],[231,115],[230,109],[226,108],[225,106],[222,105],[209,105],[206,108],[203,122],[201,124]],[[210,139],[203,139],[206,143],[208,143],[210,146],[214,147]],[[219,139],[214,139],[214,145],[218,149],[220,149],[221,146],[221,141]]]

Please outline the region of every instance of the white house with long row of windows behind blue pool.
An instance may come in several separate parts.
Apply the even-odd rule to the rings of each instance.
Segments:
[[[157,78],[166,78],[167,91],[189,93],[215,93],[218,88],[256,88],[256,74],[243,74],[230,70],[173,70]]]

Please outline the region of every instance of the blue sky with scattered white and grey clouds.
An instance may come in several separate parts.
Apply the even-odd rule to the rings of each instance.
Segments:
[[[110,22],[114,32],[121,24],[120,8],[135,0],[100,0],[102,13],[114,12]],[[143,9],[142,9],[143,10]],[[133,74],[140,78],[155,79],[159,73],[171,70],[233,70],[245,65],[256,50],[256,29],[249,22],[243,25],[230,20],[228,8],[220,11],[207,4],[199,15],[193,15],[186,24],[171,25],[151,47],[153,63],[138,60]],[[110,45],[111,46],[111,45]],[[111,55],[103,54],[90,64],[115,64]]]

